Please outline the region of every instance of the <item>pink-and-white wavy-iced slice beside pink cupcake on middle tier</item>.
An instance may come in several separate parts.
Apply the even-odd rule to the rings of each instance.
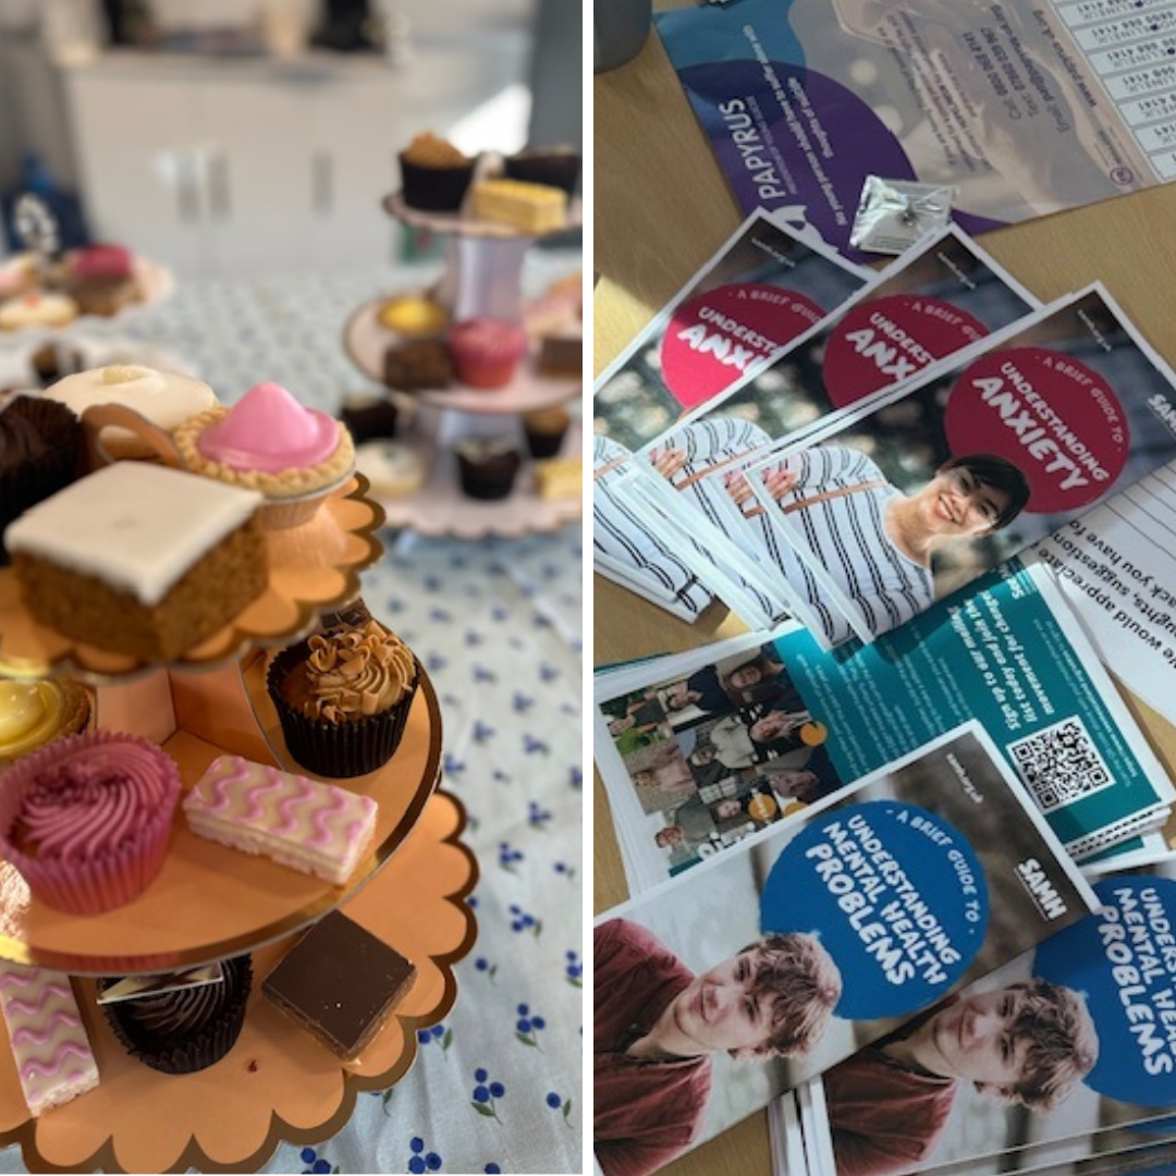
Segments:
[[[376,803],[238,755],[209,764],[183,799],[194,834],[346,882],[375,833]]]

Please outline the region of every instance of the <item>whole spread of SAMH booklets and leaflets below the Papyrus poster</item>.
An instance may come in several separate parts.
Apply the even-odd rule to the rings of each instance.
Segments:
[[[594,416],[596,570],[750,629],[596,674],[604,1176],[768,1105],[781,1176],[1176,1161],[1176,791],[1100,663],[1172,713],[1171,370],[957,228],[873,274],[756,213]],[[634,1070],[764,934],[818,961],[804,1040]]]

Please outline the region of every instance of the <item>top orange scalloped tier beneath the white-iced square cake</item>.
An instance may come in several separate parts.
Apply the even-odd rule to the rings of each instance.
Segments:
[[[172,664],[208,668],[253,644],[285,644],[300,637],[323,609],[359,595],[360,572],[381,554],[376,530],[382,508],[367,497],[367,479],[355,475],[340,487],[310,522],[266,534],[269,587],[218,633],[193,646]],[[0,674],[112,677],[149,668],[123,654],[83,644],[38,624],[25,609],[16,579],[0,569]]]

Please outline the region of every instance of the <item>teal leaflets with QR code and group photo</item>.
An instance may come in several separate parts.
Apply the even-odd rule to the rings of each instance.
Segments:
[[[597,674],[595,701],[633,894],[969,720],[1080,862],[1162,847],[1141,838],[1176,799],[1053,574],[1016,560],[870,644],[790,622]]]

